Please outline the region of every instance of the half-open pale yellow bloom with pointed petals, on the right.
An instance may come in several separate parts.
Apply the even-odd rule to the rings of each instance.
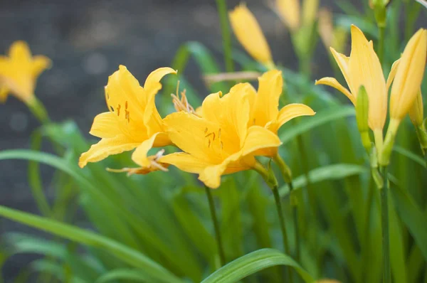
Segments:
[[[389,83],[386,85],[381,63],[374,51],[372,41],[367,41],[362,31],[357,26],[352,26],[350,57],[338,53],[334,48],[330,49],[350,90],[340,85],[335,78],[322,78],[316,81],[316,85],[329,85],[336,88],[344,93],[353,105],[356,105],[359,87],[363,85],[369,97],[369,127],[373,131],[381,131],[386,121]]]

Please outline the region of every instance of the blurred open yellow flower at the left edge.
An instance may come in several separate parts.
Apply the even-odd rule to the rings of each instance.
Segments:
[[[51,65],[43,55],[31,55],[23,41],[14,42],[9,56],[0,56],[0,102],[6,101],[9,92],[26,104],[34,99],[38,76]]]

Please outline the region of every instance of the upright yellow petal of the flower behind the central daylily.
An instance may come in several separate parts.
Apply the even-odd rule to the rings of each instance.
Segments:
[[[282,72],[270,70],[258,78],[258,94],[255,96],[253,124],[264,127],[278,116],[279,98],[283,89]]]

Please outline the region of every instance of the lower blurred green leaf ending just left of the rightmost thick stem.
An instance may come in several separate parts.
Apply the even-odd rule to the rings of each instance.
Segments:
[[[356,164],[332,164],[312,169],[312,171],[308,173],[308,176],[310,177],[310,183],[317,183],[327,180],[340,180],[348,176],[359,175],[366,172],[367,169],[364,166]],[[307,178],[305,175],[298,176],[293,179],[292,183],[295,189],[302,188],[307,186]],[[279,189],[279,193],[281,197],[286,196],[289,193],[288,186],[282,186]]]

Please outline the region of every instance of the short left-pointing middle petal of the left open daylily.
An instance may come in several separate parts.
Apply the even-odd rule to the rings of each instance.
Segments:
[[[93,119],[89,134],[100,138],[110,138],[117,136],[117,134],[122,134],[115,113],[103,112],[97,114]]]

